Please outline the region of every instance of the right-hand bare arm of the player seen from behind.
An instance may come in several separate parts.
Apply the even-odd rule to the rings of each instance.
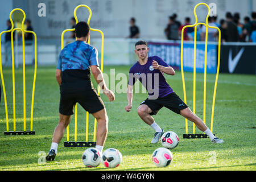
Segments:
[[[103,90],[104,94],[109,98],[109,101],[114,101],[115,94],[107,88],[100,68],[98,68],[97,65],[92,65],[90,69],[92,71],[94,79],[96,80],[97,84],[101,86],[101,89]]]

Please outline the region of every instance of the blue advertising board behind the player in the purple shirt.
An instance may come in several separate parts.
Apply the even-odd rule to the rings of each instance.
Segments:
[[[148,42],[150,51],[148,56],[159,56],[167,64],[176,69],[180,69],[180,43]],[[183,45],[183,69],[193,72],[194,44],[184,43]],[[196,72],[204,72],[205,44],[198,43],[196,46]],[[207,46],[207,73],[217,71],[217,46],[208,43]]]

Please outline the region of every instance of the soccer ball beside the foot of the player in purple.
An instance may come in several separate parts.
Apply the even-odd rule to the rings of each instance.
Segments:
[[[161,137],[162,146],[173,149],[179,144],[179,137],[173,131],[167,131]]]

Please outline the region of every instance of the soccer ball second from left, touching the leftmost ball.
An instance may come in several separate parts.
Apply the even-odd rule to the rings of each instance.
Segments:
[[[102,153],[102,164],[108,168],[118,167],[122,162],[122,154],[115,148],[108,148]]]

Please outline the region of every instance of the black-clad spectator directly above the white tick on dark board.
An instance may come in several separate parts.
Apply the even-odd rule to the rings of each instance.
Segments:
[[[226,13],[226,22],[228,23],[226,42],[238,42],[237,26],[233,22],[233,16],[230,12]]]

